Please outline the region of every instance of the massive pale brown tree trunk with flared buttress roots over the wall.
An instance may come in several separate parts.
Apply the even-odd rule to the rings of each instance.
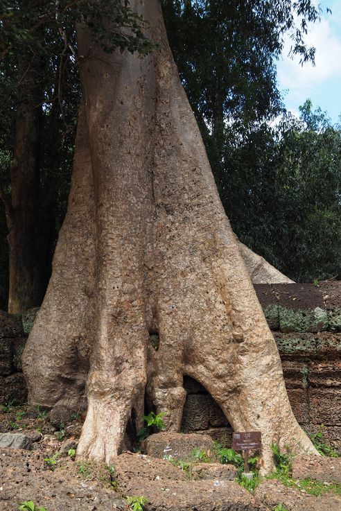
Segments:
[[[78,456],[110,463],[145,397],[178,431],[183,376],[234,430],[316,453],[220,203],[159,1],[133,1],[160,47],[106,55],[79,30],[84,101],[67,218],[24,353],[30,401],[79,408]],[[158,349],[150,335],[159,336]]]

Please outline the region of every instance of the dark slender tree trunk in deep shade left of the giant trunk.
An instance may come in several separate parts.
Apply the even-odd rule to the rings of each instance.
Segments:
[[[42,62],[19,55],[15,142],[10,167],[11,201],[7,208],[9,246],[8,312],[40,305],[48,281],[46,214],[40,203],[40,131],[42,99],[37,85]]]

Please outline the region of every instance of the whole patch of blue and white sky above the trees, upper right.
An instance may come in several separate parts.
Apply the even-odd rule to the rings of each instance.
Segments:
[[[322,21],[311,25],[306,42],[315,46],[315,67],[299,64],[299,58],[288,58],[290,40],[286,41],[282,57],[277,63],[279,90],[284,103],[292,113],[299,112],[307,98],[313,108],[320,106],[333,123],[341,114],[341,0],[322,0]],[[326,13],[326,7],[332,14]]]

